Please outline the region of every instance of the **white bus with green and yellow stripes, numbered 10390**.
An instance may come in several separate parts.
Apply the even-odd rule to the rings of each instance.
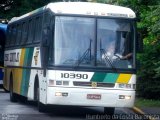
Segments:
[[[4,87],[46,105],[133,107],[136,16],[125,7],[50,3],[8,24]]]

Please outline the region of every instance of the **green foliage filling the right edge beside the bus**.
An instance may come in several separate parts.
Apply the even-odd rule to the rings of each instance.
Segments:
[[[160,96],[160,5],[142,7],[139,30],[143,34],[144,53],[139,55],[139,96],[159,99]]]

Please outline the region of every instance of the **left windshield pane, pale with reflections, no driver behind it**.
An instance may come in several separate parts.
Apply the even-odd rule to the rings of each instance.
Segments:
[[[55,21],[55,64],[91,65],[95,20],[56,17]]]

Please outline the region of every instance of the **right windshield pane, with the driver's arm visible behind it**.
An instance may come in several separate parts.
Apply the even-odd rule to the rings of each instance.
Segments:
[[[132,68],[132,38],[129,22],[116,19],[98,19],[97,65]]]

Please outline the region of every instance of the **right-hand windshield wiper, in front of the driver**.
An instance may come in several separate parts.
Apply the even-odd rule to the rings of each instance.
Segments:
[[[114,67],[112,61],[110,60],[109,56],[106,53],[107,52],[102,48],[102,43],[100,39],[100,54],[104,56],[104,59],[105,61],[107,61],[108,65],[110,65],[111,68],[117,72],[117,69]]]

